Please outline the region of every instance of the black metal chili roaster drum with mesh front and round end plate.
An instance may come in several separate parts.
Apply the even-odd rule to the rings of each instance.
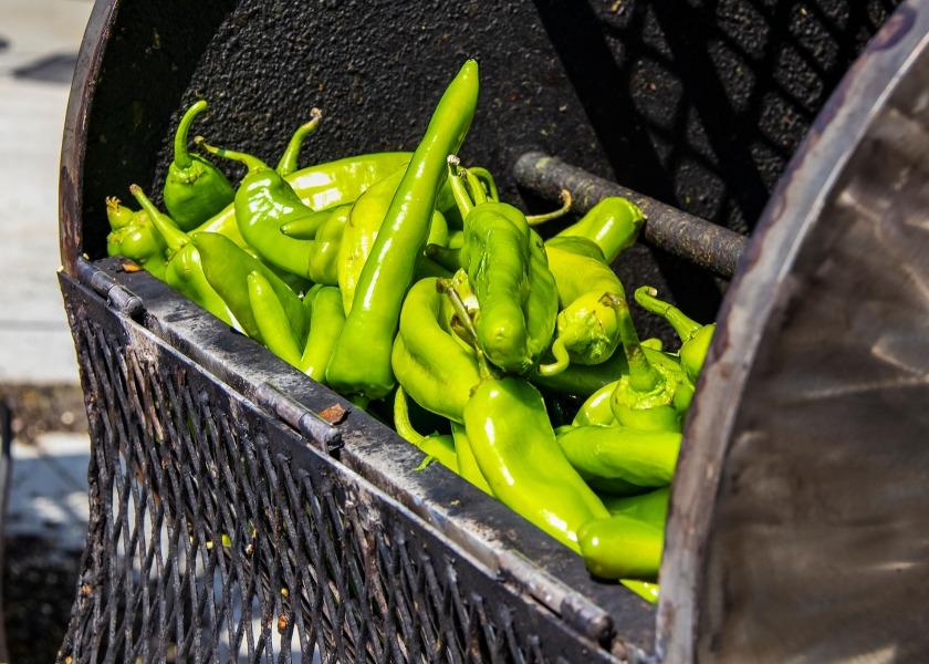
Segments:
[[[61,167],[92,456],[59,660],[926,661],[928,30],[916,0],[97,2]],[[466,162],[535,211],[630,187],[627,290],[718,315],[657,608],[105,258],[104,197],[160,190],[191,101],[269,159],[313,106],[305,164],[409,149],[472,55]]]

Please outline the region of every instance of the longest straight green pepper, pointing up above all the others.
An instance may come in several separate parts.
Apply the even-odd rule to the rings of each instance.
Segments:
[[[478,90],[478,63],[469,60],[439,101],[390,201],[326,369],[326,382],[345,394],[379,398],[394,386],[390,355],[400,307],[429,235],[446,156],[471,126]]]

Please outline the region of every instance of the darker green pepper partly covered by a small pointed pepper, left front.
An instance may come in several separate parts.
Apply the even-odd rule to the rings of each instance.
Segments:
[[[305,339],[306,311],[296,293],[263,262],[246,252],[223,235],[195,232],[190,241],[200,252],[203,273],[242,325],[246,334],[264,343],[249,300],[248,277],[260,272],[274,289],[290,321],[294,339]]]

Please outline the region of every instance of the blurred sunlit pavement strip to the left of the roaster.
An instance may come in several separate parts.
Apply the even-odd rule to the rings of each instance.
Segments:
[[[13,662],[50,662],[87,521],[88,439],[55,271],[58,173],[92,0],[0,2],[0,400],[13,411],[3,613]]]

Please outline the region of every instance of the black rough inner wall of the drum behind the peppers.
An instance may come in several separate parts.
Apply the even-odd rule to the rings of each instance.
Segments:
[[[528,151],[666,204],[751,229],[815,113],[894,0],[108,0],[85,43],[63,164],[65,264],[104,251],[104,197],[160,188],[173,124],[273,158],[313,106],[327,117],[303,163],[411,147],[466,55],[483,92],[463,156],[508,174]],[[92,21],[92,27],[94,22]],[[90,62],[96,64],[95,59]],[[80,85],[83,81],[84,85]],[[77,100],[81,100],[79,104]],[[86,154],[84,149],[86,148]],[[535,209],[541,209],[537,201]],[[648,250],[629,288],[656,286],[710,320],[721,284]],[[657,330],[647,330],[653,334]]]

